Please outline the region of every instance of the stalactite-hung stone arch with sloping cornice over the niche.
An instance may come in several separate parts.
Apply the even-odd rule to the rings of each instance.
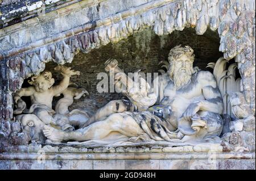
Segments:
[[[104,1],[104,5],[114,5],[114,1]],[[134,1],[135,2],[135,1]],[[133,2],[133,3],[134,3]],[[144,2],[144,1],[143,1]],[[182,31],[185,27],[193,27],[198,35],[203,35],[207,28],[218,31],[220,35],[220,51],[227,60],[235,58],[242,77],[241,89],[247,103],[255,111],[255,2],[254,1],[149,1],[133,6],[124,5],[121,11],[112,9],[104,18],[91,18],[83,23],[75,22],[75,27],[64,30],[58,28],[52,20],[42,23],[42,28],[50,28],[52,35],[32,41],[11,43],[17,31],[11,32],[3,42],[6,49],[1,49],[1,108],[0,119],[13,117],[12,92],[20,89],[24,78],[43,71],[46,62],[57,64],[72,62],[79,51],[84,53],[91,49],[117,42],[134,32],[151,27],[158,35]],[[108,4],[109,3],[109,4]],[[83,11],[86,16],[93,17],[90,8],[97,5],[77,4],[70,11],[58,11],[64,14],[60,20],[70,23],[72,17],[79,17]],[[120,5],[121,6],[121,5]],[[79,11],[78,11],[79,10]],[[110,11],[110,10],[109,10]],[[90,12],[90,13],[89,13]],[[95,11],[96,12],[96,11]],[[53,13],[53,12],[52,12]],[[72,15],[72,16],[71,16]],[[46,18],[51,14],[46,14]],[[95,15],[96,16],[96,15]],[[51,19],[52,17],[48,17]],[[33,21],[32,19],[30,20]],[[54,21],[53,21],[54,22]],[[31,30],[28,25],[28,30]],[[52,30],[53,29],[53,30]],[[26,29],[24,30],[26,31]],[[23,31],[22,31],[23,32]],[[31,31],[28,31],[31,33]],[[18,32],[19,33],[19,32]],[[20,32],[21,33],[21,32]],[[13,35],[13,37],[11,37]],[[24,34],[26,35],[26,34]],[[18,34],[18,37],[20,38]],[[32,36],[32,34],[29,34]]]

